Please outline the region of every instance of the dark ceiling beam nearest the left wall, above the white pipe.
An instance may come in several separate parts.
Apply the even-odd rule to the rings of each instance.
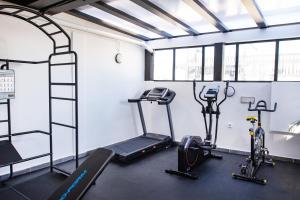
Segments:
[[[144,41],[148,41],[150,40],[150,38],[146,37],[146,36],[143,36],[143,35],[139,35],[139,34],[135,34],[135,33],[132,33],[132,32],[129,32],[129,31],[126,31],[124,29],[121,29],[117,26],[114,26],[114,25],[111,25],[111,24],[108,24],[106,22],[104,22],[103,20],[101,19],[98,19],[96,17],[93,17],[93,16],[90,16],[90,15],[87,15],[83,12],[80,12],[78,10],[70,10],[70,11],[67,11],[66,13],[72,15],[72,16],[75,16],[75,17],[78,17],[80,19],[83,19],[83,20],[86,20],[86,21],[89,21],[89,22],[92,22],[94,24],[97,24],[97,25],[100,25],[100,26],[104,26],[106,28],[109,28],[109,29],[112,29],[112,30],[115,30],[115,31],[118,31],[120,33],[124,33],[126,35],[129,35],[131,37],[135,37],[135,38],[138,38],[140,40],[144,40]]]

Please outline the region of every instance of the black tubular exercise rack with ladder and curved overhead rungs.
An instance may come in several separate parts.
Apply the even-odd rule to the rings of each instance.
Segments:
[[[24,13],[26,13],[24,15]],[[50,55],[44,55],[47,57],[47,60],[42,61],[32,61],[32,60],[11,60],[11,59],[2,59],[0,58],[0,71],[1,71],[1,79],[5,80],[5,82],[10,85],[2,85],[0,86],[0,99],[4,100],[0,101],[0,106],[6,107],[7,112],[3,115],[6,115],[4,120],[0,120],[0,124],[5,124],[3,127],[7,127],[7,130],[1,129],[0,132],[0,168],[2,167],[9,167],[9,177],[12,178],[14,176],[14,165],[20,164],[23,162],[28,162],[31,160],[48,157],[49,158],[49,164],[50,169],[49,171],[51,174],[55,174],[52,172],[60,172],[64,173],[66,175],[70,175],[70,172],[60,169],[58,166],[54,165],[54,144],[53,144],[53,134],[57,132],[57,126],[60,126],[61,128],[65,129],[71,129],[72,131],[69,131],[70,133],[74,134],[74,140],[72,141],[74,143],[74,157],[75,157],[75,165],[76,168],[79,166],[79,160],[78,160],[78,152],[79,152],[79,129],[78,129],[78,62],[77,62],[77,53],[71,50],[71,38],[67,34],[67,32],[60,27],[55,21],[47,17],[46,15],[43,15],[41,12],[38,12],[36,10],[22,7],[22,6],[16,6],[16,5],[0,5],[0,15],[6,15],[8,17],[17,18],[19,20],[22,20],[23,22],[26,22],[32,27],[35,27],[40,33],[43,33],[51,42],[52,45],[52,51],[50,52]],[[29,17],[30,16],[30,17]],[[36,20],[39,19],[39,20]],[[41,23],[43,22],[43,23]],[[21,35],[22,33],[20,33]],[[58,37],[57,37],[58,36]],[[58,59],[59,57],[59,59]],[[48,86],[48,97],[45,99],[48,102],[48,114],[49,117],[45,118],[47,120],[47,123],[49,124],[49,128],[46,130],[25,130],[22,132],[13,132],[15,129],[12,127],[12,118],[11,118],[11,98],[14,97],[14,72],[10,69],[11,64],[22,64],[20,67],[23,67],[23,65],[31,64],[36,65],[40,67],[41,64],[44,64],[44,67],[47,67],[48,71],[48,78],[45,80],[45,84]],[[54,77],[57,73],[53,73],[54,68],[60,67],[72,67],[72,74],[66,73],[66,77],[70,77],[70,82],[57,82],[54,81],[57,78]],[[66,71],[66,70],[64,70]],[[63,74],[61,77],[63,77]],[[4,77],[4,79],[3,79]],[[63,80],[63,79],[62,79]],[[1,83],[0,83],[1,84]],[[41,83],[37,83],[41,84]],[[72,88],[72,91],[74,93],[69,96],[55,96],[53,93],[53,90],[59,87],[70,87]],[[4,92],[4,93],[3,93]],[[54,103],[55,102],[55,103]],[[69,102],[74,110],[72,112],[65,113],[69,114],[71,118],[74,117],[74,120],[72,120],[72,124],[66,124],[61,121],[55,121],[53,119],[53,116],[57,115],[57,112],[61,112],[59,109],[55,109],[58,102]],[[31,113],[34,115],[35,113]],[[31,157],[25,157],[22,158],[19,154],[19,152],[14,147],[13,141],[15,137],[20,137],[24,135],[30,135],[30,134],[41,134],[46,137],[46,139],[49,141],[49,151],[44,153],[38,153]],[[38,147],[37,147],[38,150]],[[72,155],[73,156],[73,155]],[[1,177],[2,178],[2,177]],[[0,180],[0,182],[4,182],[7,180]]]

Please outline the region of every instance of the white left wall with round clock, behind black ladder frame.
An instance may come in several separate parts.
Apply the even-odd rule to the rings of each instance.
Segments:
[[[90,29],[105,28],[82,24],[66,15],[56,16],[71,20]],[[51,41],[42,32],[15,18],[0,16],[0,58],[21,60],[47,60],[52,50]],[[143,90],[144,48],[136,44],[117,41],[97,34],[64,27],[73,38],[74,50],[79,58],[79,134],[80,153],[135,136],[139,131],[133,115],[136,109],[127,98]],[[98,29],[97,29],[98,28]],[[116,64],[117,49],[123,55],[122,64]],[[11,64],[16,71],[16,99],[12,100],[12,130],[48,131],[48,68],[47,64]],[[54,72],[55,74],[55,72]],[[54,81],[70,80],[71,70],[60,74]],[[55,95],[72,93],[70,89],[53,89]],[[6,117],[5,106],[0,108],[1,119]],[[57,112],[54,121],[74,123],[69,103],[53,103]],[[72,131],[54,128],[54,159],[74,155]],[[0,125],[0,134],[7,134],[7,126]],[[13,144],[24,158],[49,152],[48,137],[40,134],[14,137]],[[42,163],[42,158],[15,165],[21,170]],[[0,174],[8,168],[0,169]]]

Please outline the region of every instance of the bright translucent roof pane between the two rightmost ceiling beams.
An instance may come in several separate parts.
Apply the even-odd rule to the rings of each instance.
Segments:
[[[241,0],[202,0],[229,29],[256,27]],[[269,0],[270,1],[270,0]]]

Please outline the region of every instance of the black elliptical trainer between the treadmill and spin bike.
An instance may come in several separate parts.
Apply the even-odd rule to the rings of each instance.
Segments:
[[[185,136],[179,146],[178,146],[178,169],[165,170],[166,173],[175,174],[191,179],[197,179],[198,175],[192,173],[193,168],[207,160],[208,158],[222,159],[222,156],[212,153],[213,149],[216,149],[216,142],[218,136],[218,122],[220,116],[220,105],[227,99],[227,91],[229,87],[229,82],[226,82],[225,87],[225,96],[218,103],[218,93],[219,87],[209,88],[206,93],[203,95],[204,89],[206,86],[203,86],[202,90],[199,93],[199,99],[196,94],[196,82],[193,82],[193,93],[196,102],[202,106],[202,114],[204,118],[206,138],[204,141],[200,136]],[[232,90],[234,91],[234,89]],[[231,94],[231,96],[233,96]],[[204,103],[207,103],[204,106]],[[207,122],[207,115],[209,116],[209,121]],[[216,116],[215,124],[215,137],[214,142],[212,143],[212,127],[213,127],[213,115]]]

